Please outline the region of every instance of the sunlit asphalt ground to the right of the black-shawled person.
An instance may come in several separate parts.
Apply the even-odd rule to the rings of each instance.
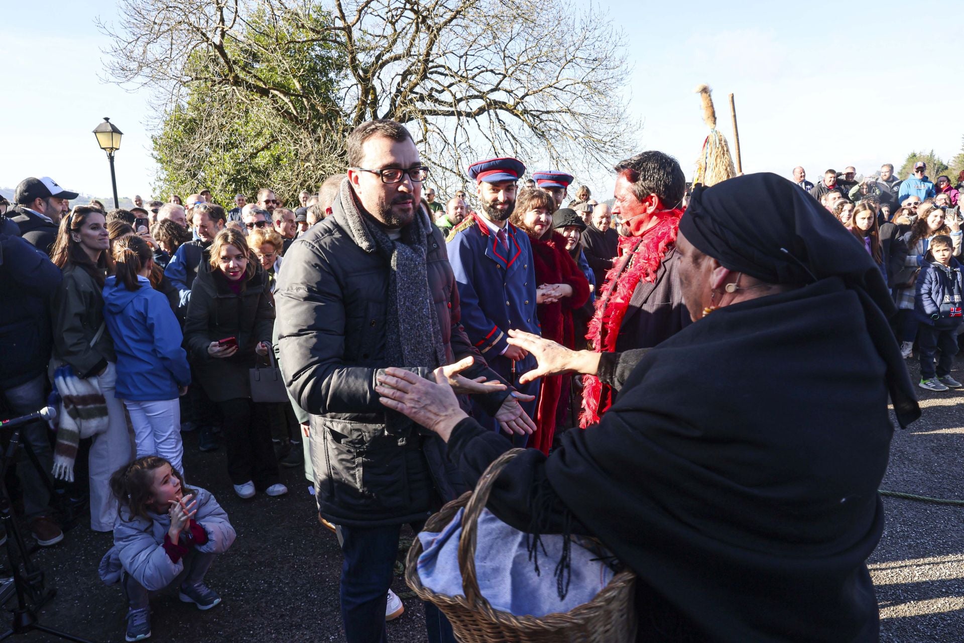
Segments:
[[[911,378],[920,380],[917,360]],[[959,357],[952,375],[964,380]],[[923,415],[894,434],[882,489],[964,500],[964,390],[918,388]],[[880,640],[964,638],[964,506],[884,497],[884,536],[868,561],[880,604]]]

